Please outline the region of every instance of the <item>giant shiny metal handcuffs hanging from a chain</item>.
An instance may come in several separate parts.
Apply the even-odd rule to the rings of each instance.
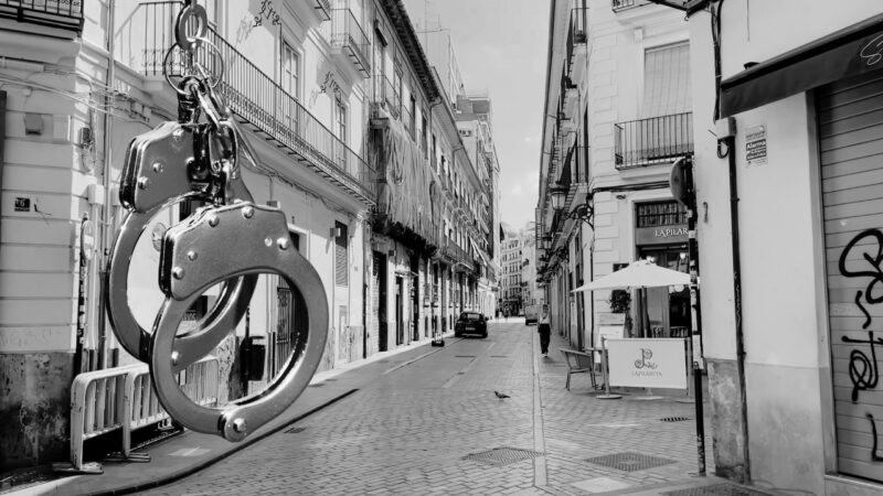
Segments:
[[[316,269],[291,242],[285,214],[256,205],[242,179],[241,163],[258,165],[257,154],[214,87],[201,51],[205,10],[189,0],[178,15],[175,45],[163,64],[179,100],[177,121],[167,121],[131,140],[120,179],[119,200],[128,211],[108,260],[105,306],[126,352],[145,362],[160,403],[182,425],[241,441],[287,409],[319,366],[328,330],[328,300]],[[187,64],[173,83],[169,60]],[[166,230],[160,247],[159,288],[166,300],[152,331],[136,321],[128,301],[135,247],[150,220],[164,208],[199,200],[206,205]],[[211,353],[246,314],[259,273],[275,273],[299,291],[308,325],[297,330],[294,351],[268,386],[223,407],[200,406],[182,391],[177,374]],[[188,309],[221,284],[214,306],[194,328],[179,334]]]

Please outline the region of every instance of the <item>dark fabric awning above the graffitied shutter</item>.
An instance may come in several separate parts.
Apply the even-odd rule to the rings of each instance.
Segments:
[[[883,69],[883,14],[757,64],[721,83],[730,117],[848,76]]]

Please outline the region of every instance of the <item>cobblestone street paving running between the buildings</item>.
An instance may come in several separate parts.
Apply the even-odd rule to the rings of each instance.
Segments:
[[[291,429],[141,494],[585,495],[643,490],[695,471],[693,405],[596,399],[585,375],[567,391],[558,336],[542,358],[535,326],[490,325],[487,339],[448,339]],[[515,461],[467,459],[503,448],[520,450],[509,452]],[[664,465],[627,472],[586,461],[626,452]]]

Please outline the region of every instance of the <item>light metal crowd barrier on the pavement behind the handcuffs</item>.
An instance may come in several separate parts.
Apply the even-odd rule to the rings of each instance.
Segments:
[[[203,406],[217,403],[219,360],[208,356],[179,375],[190,399]],[[102,473],[98,463],[83,462],[84,443],[121,430],[119,456],[106,461],[148,462],[149,456],[131,452],[131,432],[169,418],[159,405],[146,364],[127,365],[79,374],[71,386],[71,464],[60,472]]]

